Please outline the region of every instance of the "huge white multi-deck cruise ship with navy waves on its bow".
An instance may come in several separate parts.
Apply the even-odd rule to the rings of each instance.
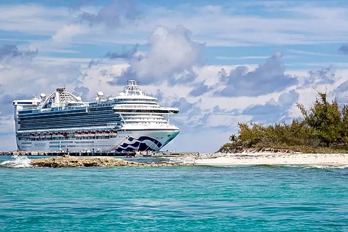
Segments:
[[[169,122],[180,109],[161,107],[135,80],[116,96],[98,92],[93,102],[63,87],[13,105],[20,151],[159,151],[180,132]]]

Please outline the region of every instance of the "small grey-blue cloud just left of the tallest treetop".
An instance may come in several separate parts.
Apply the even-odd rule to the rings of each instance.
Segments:
[[[271,98],[265,104],[257,104],[246,107],[242,114],[251,115],[252,121],[261,123],[275,123],[288,121],[289,110],[299,99],[299,93],[294,89],[279,96],[278,101]]]

